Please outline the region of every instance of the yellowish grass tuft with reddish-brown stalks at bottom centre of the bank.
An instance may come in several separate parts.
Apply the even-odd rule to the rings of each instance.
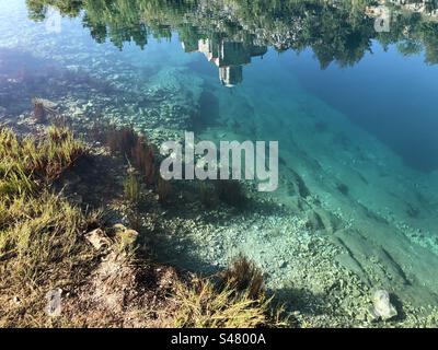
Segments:
[[[218,285],[211,279],[176,282],[173,302],[174,327],[258,328],[286,327],[283,307],[273,307],[263,290],[264,276],[247,258],[239,256],[220,275]]]

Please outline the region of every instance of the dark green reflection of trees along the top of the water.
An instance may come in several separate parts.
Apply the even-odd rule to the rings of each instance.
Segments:
[[[412,55],[423,48],[429,63],[438,63],[438,23],[401,11],[389,33],[377,33],[366,15],[373,0],[27,0],[30,15],[43,20],[49,5],[65,15],[83,11],[83,25],[102,43],[140,47],[148,36],[168,38],[176,31],[188,45],[201,38],[227,39],[245,46],[273,46],[278,51],[311,48],[323,68],[358,62],[377,39],[399,44]],[[426,10],[437,9],[435,1]]]

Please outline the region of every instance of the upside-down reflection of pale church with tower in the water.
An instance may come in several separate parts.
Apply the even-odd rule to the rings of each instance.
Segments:
[[[199,39],[183,42],[186,52],[203,52],[210,62],[219,68],[219,79],[227,88],[243,81],[243,66],[251,63],[252,57],[267,52],[266,46],[246,45],[224,39]]]

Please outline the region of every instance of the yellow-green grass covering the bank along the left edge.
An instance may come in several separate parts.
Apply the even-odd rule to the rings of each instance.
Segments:
[[[0,129],[0,325],[49,326],[45,294],[91,269],[83,234],[96,219],[47,190],[84,152],[65,128],[24,139]]]

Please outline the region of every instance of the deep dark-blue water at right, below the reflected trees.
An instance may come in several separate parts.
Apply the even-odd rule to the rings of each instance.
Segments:
[[[423,55],[404,57],[396,47],[384,51],[373,45],[353,68],[332,63],[321,70],[310,52],[291,58],[311,93],[367,128],[411,164],[438,168],[438,66],[428,66]]]

